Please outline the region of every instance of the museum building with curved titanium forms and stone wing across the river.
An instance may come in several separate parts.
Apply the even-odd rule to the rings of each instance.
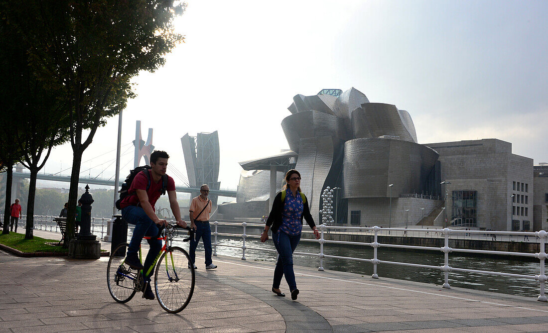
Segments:
[[[309,198],[316,222],[321,221],[321,193],[329,186],[335,188],[337,225],[494,230],[547,227],[535,216],[546,216],[546,204],[540,201],[548,202],[548,181],[544,182],[548,177],[541,177],[544,171],[539,171],[533,184],[533,160],[512,154],[509,142],[484,139],[421,145],[409,112],[391,104],[371,103],[355,88],[295,95],[288,110],[290,114],[281,125],[290,150],[296,154],[292,155],[295,169],[301,173],[301,189]],[[266,159],[241,165],[251,170]],[[277,165],[290,168],[288,160],[277,160]],[[256,177],[260,188],[268,186],[266,175]],[[538,184],[543,184],[546,193],[536,191]],[[242,217],[267,215],[270,196],[256,185],[253,178],[242,176],[238,198],[226,204],[226,209],[240,207]],[[276,191],[281,185],[283,179],[278,175]],[[251,188],[261,195],[248,198],[239,194]]]

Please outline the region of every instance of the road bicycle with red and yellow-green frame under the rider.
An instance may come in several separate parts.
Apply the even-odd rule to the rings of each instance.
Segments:
[[[184,249],[172,246],[175,227],[181,228],[177,225],[168,225],[161,228],[157,237],[144,237],[144,239],[157,238],[165,242],[146,275],[142,269],[136,270],[124,263],[128,243],[118,245],[112,252],[107,266],[106,280],[110,295],[116,302],[128,302],[137,291],[144,290],[144,276],[149,276],[152,269],[156,268],[154,289],[160,306],[169,313],[178,313],[189,304],[194,292],[194,265]],[[188,242],[194,230],[190,227],[185,229],[189,231],[189,237],[183,239],[183,242]],[[141,248],[139,248],[139,260],[142,262]]]

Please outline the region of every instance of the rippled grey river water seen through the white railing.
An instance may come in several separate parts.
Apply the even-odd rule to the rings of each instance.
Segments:
[[[175,241],[178,246],[188,250],[188,243]],[[241,239],[219,238],[219,245],[242,246]],[[175,245],[175,244],[174,244]],[[246,240],[246,259],[248,261],[276,261],[276,252],[266,251],[274,249],[274,245],[269,240],[266,243],[260,243],[259,240]],[[203,245],[200,242],[198,252],[203,251]],[[296,249],[297,252],[318,253],[319,244],[301,241]],[[219,255],[242,257],[242,250],[239,248],[228,248],[218,246]],[[324,254],[355,257],[361,259],[372,259],[373,249],[370,246],[324,244]],[[443,266],[443,252],[413,252],[410,250],[394,250],[390,248],[379,248],[378,259],[386,261],[398,261],[407,263],[418,263],[423,265]],[[213,260],[215,261],[215,259]],[[294,254],[293,262],[298,266],[318,267],[319,259],[317,257]],[[199,263],[198,263],[199,264]],[[540,273],[539,262],[529,262],[523,260],[510,260],[489,257],[463,256],[449,254],[449,266],[455,268],[478,269],[482,271],[494,271],[513,274],[535,275]],[[328,259],[323,260],[324,269],[333,271],[351,272],[371,276],[373,274],[373,265],[369,262],[360,262],[355,260]],[[443,284],[443,272],[429,268],[407,267],[390,264],[377,265],[377,274],[379,278],[383,277],[411,280],[415,282],[425,282],[436,285]],[[539,295],[540,284],[534,279],[500,277],[496,275],[450,272],[449,285],[461,288],[469,288],[484,291],[501,292],[503,294],[521,295],[536,297]]]

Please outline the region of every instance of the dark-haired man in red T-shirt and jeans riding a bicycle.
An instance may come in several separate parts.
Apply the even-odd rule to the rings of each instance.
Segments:
[[[123,219],[128,223],[135,225],[132,240],[129,242],[125,263],[133,269],[143,269],[145,274],[149,271],[152,262],[154,262],[156,256],[158,256],[162,249],[162,241],[158,239],[147,239],[150,249],[143,266],[141,265],[137,254],[142,238],[145,236],[155,237],[159,232],[158,226],[168,225],[166,220],[159,219],[155,213],[156,201],[162,194],[164,182],[162,178],[167,170],[168,158],[168,153],[164,151],[152,152],[152,154],[150,154],[151,169],[143,170],[135,175],[132,185],[129,187],[128,196],[120,203]],[[145,173],[149,174],[147,175]],[[167,176],[167,193],[169,205],[171,206],[175,220],[177,220],[177,224],[186,228],[186,222],[181,220],[181,211],[175,192],[175,181],[170,176]],[[150,269],[150,271],[150,274],[145,277],[145,288],[143,290],[143,296],[147,300],[154,299],[154,294],[150,287],[150,279],[154,271],[152,269]]]

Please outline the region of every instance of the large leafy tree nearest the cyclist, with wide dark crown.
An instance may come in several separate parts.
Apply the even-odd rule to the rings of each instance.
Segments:
[[[68,104],[73,151],[67,237],[73,237],[82,154],[105,119],[134,97],[130,79],[155,71],[184,37],[173,20],[186,4],[173,0],[3,0],[32,47],[32,68]],[[83,130],[89,129],[87,137]]]

